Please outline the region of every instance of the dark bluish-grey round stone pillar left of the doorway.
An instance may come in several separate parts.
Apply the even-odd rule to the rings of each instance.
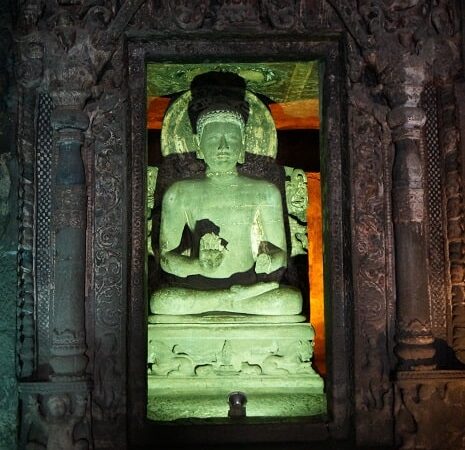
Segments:
[[[51,379],[85,377],[85,256],[86,177],[81,157],[83,131],[89,119],[83,112],[86,92],[51,92],[55,104],[52,125],[57,134],[55,190],[52,197],[52,235],[55,239],[55,296],[53,306]]]

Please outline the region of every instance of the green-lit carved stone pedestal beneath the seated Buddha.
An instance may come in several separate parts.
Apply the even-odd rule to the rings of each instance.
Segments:
[[[247,416],[326,413],[323,380],[311,367],[310,324],[233,315],[166,323],[170,317],[152,316],[165,323],[148,330],[150,419],[226,418],[229,394],[237,391],[247,398]]]

